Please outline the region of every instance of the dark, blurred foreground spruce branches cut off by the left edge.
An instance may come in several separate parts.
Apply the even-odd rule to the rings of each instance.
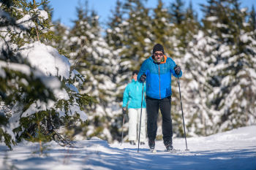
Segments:
[[[4,12],[1,13],[0,69],[2,74],[0,77],[0,112],[1,118],[3,118],[1,120],[4,121],[1,121],[0,125],[0,140],[10,148],[12,148],[12,144],[17,142],[14,131],[10,128],[10,123],[13,123],[10,120],[15,115],[12,110],[15,108],[15,105],[19,103],[26,108],[33,100],[56,100],[53,91],[48,89],[45,83],[39,79],[39,74],[33,74],[33,72],[37,72],[37,69],[31,67],[20,53],[17,53],[18,45],[12,43],[13,41],[10,39],[12,36],[8,36],[14,35],[15,30],[26,31],[22,26],[16,24],[16,18],[12,17],[14,16],[12,5],[16,3],[18,2],[5,1],[1,4],[1,9],[4,9]],[[6,28],[9,28],[10,31],[5,31],[7,30]],[[24,72],[24,69],[27,69],[29,72]],[[42,93],[34,93],[35,89]],[[18,119],[16,123],[18,123]]]

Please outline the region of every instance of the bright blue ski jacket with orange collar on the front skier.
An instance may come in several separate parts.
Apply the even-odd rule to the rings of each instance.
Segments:
[[[146,96],[151,98],[162,99],[172,95],[171,75],[181,77],[174,72],[176,63],[171,58],[164,55],[164,61],[156,63],[153,56],[146,59],[140,67],[138,80],[142,74],[146,74]]]

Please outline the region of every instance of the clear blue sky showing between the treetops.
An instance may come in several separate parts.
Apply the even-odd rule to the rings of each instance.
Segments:
[[[162,0],[165,3],[165,7],[169,6],[170,2],[175,0]],[[185,7],[189,5],[190,0],[184,0]],[[202,12],[200,12],[199,4],[206,4],[206,0],[191,0],[193,8],[198,13],[198,17],[202,17]],[[85,4],[85,0],[50,0],[50,6],[53,8],[53,20],[61,20],[65,26],[72,27],[72,21],[76,19],[75,8],[80,5]],[[248,7],[249,10],[252,9],[252,4],[256,7],[255,0],[240,0],[241,7]],[[89,0],[89,9],[94,9],[99,15],[99,22],[104,26],[107,23],[108,18],[111,13],[110,10],[114,9],[116,6],[116,0]],[[148,0],[146,7],[155,7],[157,5],[157,0]]]

